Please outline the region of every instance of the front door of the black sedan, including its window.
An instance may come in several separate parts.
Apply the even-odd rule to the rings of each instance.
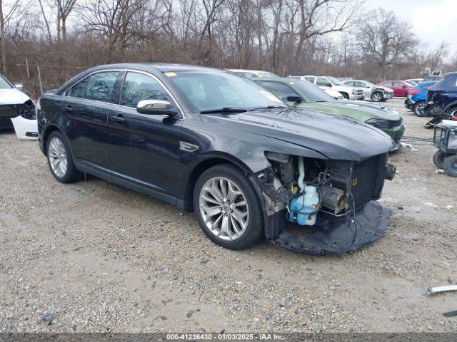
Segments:
[[[145,73],[127,72],[119,104],[109,110],[109,157],[112,177],[139,190],[175,195],[179,177],[181,120],[136,111],[140,100],[172,100],[161,84]]]

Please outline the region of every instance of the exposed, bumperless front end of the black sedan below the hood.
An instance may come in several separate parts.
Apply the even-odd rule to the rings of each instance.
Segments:
[[[271,167],[253,175],[253,181],[261,190],[271,242],[298,252],[341,254],[386,231],[391,210],[376,199],[384,180],[396,173],[387,153],[358,162],[265,155]]]

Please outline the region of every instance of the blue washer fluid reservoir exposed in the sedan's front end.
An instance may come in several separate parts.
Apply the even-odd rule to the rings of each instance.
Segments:
[[[306,185],[304,190],[305,193],[303,195],[291,199],[289,219],[302,226],[312,226],[316,223],[319,195],[313,185]]]

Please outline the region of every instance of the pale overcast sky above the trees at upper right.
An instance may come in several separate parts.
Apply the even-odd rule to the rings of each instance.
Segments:
[[[447,41],[451,55],[457,53],[457,0],[367,0],[366,6],[395,11],[428,48]]]

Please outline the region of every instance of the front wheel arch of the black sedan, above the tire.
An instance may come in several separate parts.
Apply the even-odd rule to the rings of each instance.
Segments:
[[[194,169],[192,169],[186,182],[186,189],[184,192],[184,209],[187,212],[192,212],[194,210],[194,189],[197,180],[199,180],[199,177],[203,174],[203,172],[205,172],[209,168],[222,164],[233,165],[234,167],[241,170],[245,175],[249,175],[250,173],[252,173],[248,166],[240,160],[233,160],[233,158],[226,157],[223,155],[209,157],[205,160],[202,160],[194,167]]]

